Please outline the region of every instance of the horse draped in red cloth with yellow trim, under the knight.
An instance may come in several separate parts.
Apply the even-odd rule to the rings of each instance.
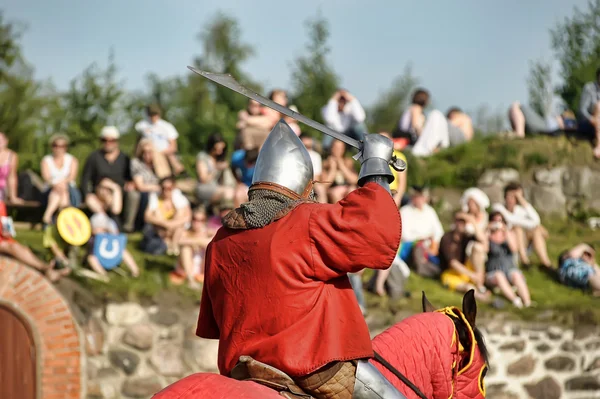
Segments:
[[[457,307],[435,310],[424,292],[422,306],[423,313],[396,323],[373,339],[375,358],[370,362],[407,399],[485,398],[488,355],[483,336],[475,325],[475,291],[464,295],[462,310]],[[282,396],[256,382],[196,373],[164,388],[153,399],[209,397],[277,399]]]

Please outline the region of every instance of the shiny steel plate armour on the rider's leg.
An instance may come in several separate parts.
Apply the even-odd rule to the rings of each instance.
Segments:
[[[387,378],[367,360],[356,366],[352,399],[406,399]]]

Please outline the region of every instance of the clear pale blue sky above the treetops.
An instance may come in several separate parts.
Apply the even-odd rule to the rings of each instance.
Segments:
[[[244,66],[267,89],[289,87],[304,51],[304,22],[330,22],[330,60],[345,88],[372,104],[407,64],[442,110],[492,109],[527,100],[529,62],[553,58],[549,29],[586,0],[1,0],[28,25],[22,44],[36,77],[59,88],[115,51],[126,87],[186,73],[197,34],[218,10],[236,17],[256,55]],[[300,110],[302,111],[302,110]]]

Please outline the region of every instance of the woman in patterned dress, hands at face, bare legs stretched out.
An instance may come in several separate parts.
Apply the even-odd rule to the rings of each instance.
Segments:
[[[531,306],[529,288],[523,273],[515,264],[514,253],[517,251],[517,239],[508,230],[506,220],[500,212],[492,212],[488,225],[489,250],[485,264],[486,284],[500,289],[517,308]],[[517,289],[517,294],[512,286]]]

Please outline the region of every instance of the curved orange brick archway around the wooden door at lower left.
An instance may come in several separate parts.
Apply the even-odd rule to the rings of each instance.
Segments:
[[[0,256],[0,302],[29,323],[37,353],[37,397],[84,396],[82,340],[69,305],[40,273]]]

